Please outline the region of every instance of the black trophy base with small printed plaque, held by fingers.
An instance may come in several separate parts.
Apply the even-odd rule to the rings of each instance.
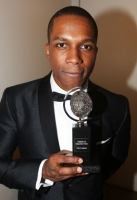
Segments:
[[[73,156],[83,159],[82,172],[99,173],[100,165],[97,155],[95,154],[90,127],[74,127],[73,129]]]

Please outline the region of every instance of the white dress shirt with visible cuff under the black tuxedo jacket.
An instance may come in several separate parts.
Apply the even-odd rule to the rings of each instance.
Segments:
[[[52,92],[58,92],[58,93],[65,94],[65,95],[68,93],[67,91],[61,89],[56,84],[52,74],[51,74],[51,78],[50,78],[50,84],[51,84]],[[87,85],[88,85],[88,82],[84,85],[84,91],[86,91],[86,92],[87,92]],[[71,95],[74,92],[72,92]],[[57,136],[58,136],[58,142],[59,142],[60,150],[70,150],[70,151],[72,151],[72,127],[74,127],[76,122],[74,120],[70,119],[66,115],[66,113],[63,109],[63,102],[54,101],[53,104],[54,104],[56,129],[57,129]],[[65,107],[66,107],[68,114],[71,117],[78,119],[78,117],[76,117],[71,111],[70,100],[66,100]],[[39,167],[38,177],[37,177],[37,182],[36,182],[36,189],[37,190],[40,188],[41,185],[43,185],[43,187],[53,185],[53,182],[48,180],[48,179],[45,180],[44,184],[41,183],[42,167],[43,167],[45,161],[46,160],[43,160],[40,164],[40,167]]]

